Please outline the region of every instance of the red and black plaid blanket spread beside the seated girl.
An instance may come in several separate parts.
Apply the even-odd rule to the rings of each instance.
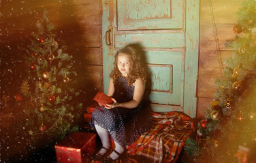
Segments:
[[[127,146],[129,162],[176,162],[195,126],[178,111],[152,113],[153,127]]]

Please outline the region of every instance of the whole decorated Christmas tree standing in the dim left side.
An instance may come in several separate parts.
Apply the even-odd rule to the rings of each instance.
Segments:
[[[24,57],[25,77],[15,97],[26,117],[30,143],[42,144],[42,137],[57,142],[70,132],[82,115],[82,103],[76,101],[74,61],[65,53],[67,46],[60,47],[63,41],[57,39],[46,11],[36,26]]]

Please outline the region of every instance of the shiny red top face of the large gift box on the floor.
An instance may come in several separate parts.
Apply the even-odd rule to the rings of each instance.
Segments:
[[[93,139],[96,139],[96,134],[88,132],[71,132],[55,146],[83,149]]]

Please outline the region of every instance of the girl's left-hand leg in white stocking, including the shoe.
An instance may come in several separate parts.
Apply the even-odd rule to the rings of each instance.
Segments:
[[[110,149],[110,138],[108,135],[108,130],[105,128],[101,128],[97,124],[95,124],[95,128],[96,128],[97,134],[99,135],[99,139],[101,139],[102,147],[105,147],[106,149]],[[105,154],[107,152],[106,149],[101,148],[97,154],[98,155]]]

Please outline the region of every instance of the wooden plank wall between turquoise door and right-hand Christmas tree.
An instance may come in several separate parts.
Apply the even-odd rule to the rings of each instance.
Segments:
[[[234,39],[235,12],[240,0],[201,0],[199,32],[199,74],[197,85],[197,118],[204,117],[217,89],[214,80],[221,77],[223,60],[232,54],[225,48],[227,39]],[[223,65],[225,67],[225,65]]]

